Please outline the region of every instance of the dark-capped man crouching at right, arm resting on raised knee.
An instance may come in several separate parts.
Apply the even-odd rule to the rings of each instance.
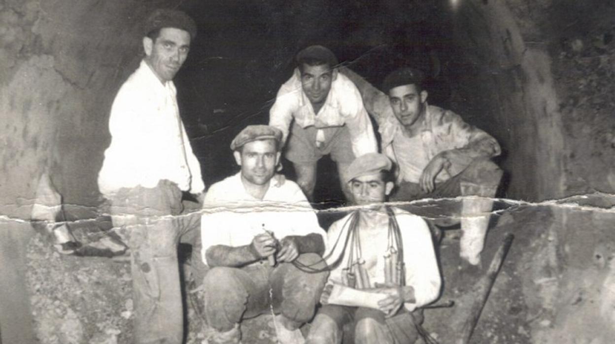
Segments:
[[[450,110],[427,105],[423,73],[402,68],[384,80],[394,116],[379,116],[383,152],[397,165],[394,201],[495,196],[502,170],[490,158],[498,142]],[[477,265],[493,201],[464,198],[461,257]],[[456,210],[458,212],[458,210]]]

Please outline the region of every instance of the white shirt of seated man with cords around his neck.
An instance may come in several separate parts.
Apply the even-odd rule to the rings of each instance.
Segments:
[[[393,209],[402,234],[406,286],[411,286],[415,289],[416,303],[407,302],[405,306],[408,310],[413,311],[416,307],[427,305],[438,297],[442,278],[440,277],[440,270],[435,258],[431,232],[425,220],[405,210]],[[352,213],[334,222],[327,232],[330,246],[335,246],[328,247],[328,250],[333,250],[331,257],[327,258],[328,263],[335,262],[344,249],[344,241],[350,228],[349,218],[351,215]],[[381,228],[381,235],[370,236],[369,239],[365,238],[365,234],[363,234],[361,239],[360,232],[359,228],[362,258],[365,260],[365,268],[367,268],[371,287],[374,287],[375,283],[384,284],[384,254],[387,250],[388,226]],[[374,232],[371,231],[371,233]],[[339,242],[335,245],[338,237],[340,238]],[[330,252],[327,252],[325,255],[329,254]],[[347,247],[344,251],[344,258],[342,258],[335,269],[331,270],[329,283],[343,284],[342,270],[346,268],[350,258],[349,247]]]

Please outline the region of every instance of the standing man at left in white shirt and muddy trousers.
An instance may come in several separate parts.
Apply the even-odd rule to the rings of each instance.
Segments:
[[[198,233],[199,216],[180,215],[183,191],[202,198],[199,161],[181,122],[173,77],[196,36],[192,18],[156,10],[146,22],[141,65],[111,107],[111,145],[98,187],[130,248],[136,343],[181,343],[183,311],[177,245]]]

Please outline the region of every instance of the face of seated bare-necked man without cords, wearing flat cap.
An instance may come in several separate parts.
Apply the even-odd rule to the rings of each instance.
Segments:
[[[241,151],[235,151],[235,160],[241,166],[241,175],[249,183],[265,185],[276,173],[280,152],[273,139],[248,142]]]

